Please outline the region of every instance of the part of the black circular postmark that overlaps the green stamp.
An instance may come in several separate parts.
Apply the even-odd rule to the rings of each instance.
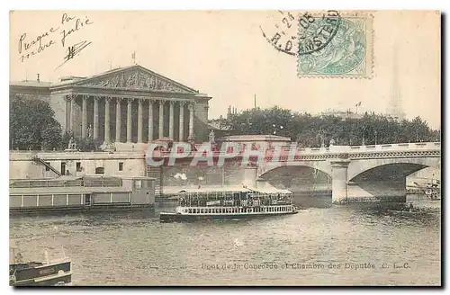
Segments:
[[[302,13],[299,16],[299,50],[298,55],[311,54],[324,49],[336,36],[341,18],[336,10],[329,10],[322,16]]]

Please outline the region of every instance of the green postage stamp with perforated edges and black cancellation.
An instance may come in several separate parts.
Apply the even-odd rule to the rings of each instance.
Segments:
[[[370,13],[300,13],[298,76],[371,78],[373,45]]]

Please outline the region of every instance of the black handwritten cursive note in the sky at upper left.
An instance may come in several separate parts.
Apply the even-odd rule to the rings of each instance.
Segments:
[[[83,30],[86,26],[94,23],[91,22],[87,16],[80,18],[67,13],[63,13],[60,20],[58,25],[51,26],[49,30],[40,33],[37,37],[30,37],[26,32],[21,35],[19,38],[18,52],[22,62],[38,56],[41,52],[51,47],[57,47],[58,40],[60,40],[61,46],[65,48],[67,41],[75,39],[77,31]],[[80,44],[82,44],[82,46]],[[65,62],[68,59],[74,58],[89,44],[91,44],[91,42],[87,40],[81,42],[76,40],[75,45],[68,46]]]

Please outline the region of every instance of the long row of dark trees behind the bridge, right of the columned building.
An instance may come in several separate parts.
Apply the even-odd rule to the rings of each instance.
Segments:
[[[320,147],[335,139],[338,145],[365,145],[415,141],[436,141],[438,130],[429,128],[419,117],[412,121],[365,112],[361,119],[342,119],[336,116],[312,116],[273,107],[253,109],[231,114],[221,122],[231,135],[275,134],[289,137],[302,147]]]

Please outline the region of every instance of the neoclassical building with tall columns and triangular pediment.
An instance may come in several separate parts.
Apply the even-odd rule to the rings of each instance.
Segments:
[[[207,94],[138,65],[58,83],[10,83],[10,93],[49,102],[64,131],[133,148],[154,139],[207,139]]]

